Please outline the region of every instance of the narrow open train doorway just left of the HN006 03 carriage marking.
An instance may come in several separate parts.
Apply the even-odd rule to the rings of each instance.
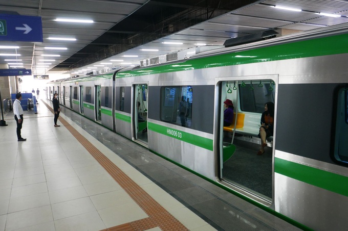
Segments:
[[[139,140],[147,144],[147,84],[135,84],[133,86],[133,137],[135,140]]]

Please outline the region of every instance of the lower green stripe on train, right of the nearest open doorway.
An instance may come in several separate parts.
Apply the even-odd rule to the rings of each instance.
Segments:
[[[298,181],[348,196],[348,177],[346,176],[279,158],[274,160],[274,171]]]

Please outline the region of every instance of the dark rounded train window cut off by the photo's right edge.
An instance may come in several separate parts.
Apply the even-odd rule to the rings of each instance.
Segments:
[[[334,159],[348,164],[348,88],[337,91],[336,130],[334,142]]]

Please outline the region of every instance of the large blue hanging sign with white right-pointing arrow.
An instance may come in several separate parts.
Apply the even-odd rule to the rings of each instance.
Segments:
[[[43,42],[41,17],[0,14],[0,41]]]

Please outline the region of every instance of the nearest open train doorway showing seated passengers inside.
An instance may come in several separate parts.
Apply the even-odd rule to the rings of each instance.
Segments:
[[[273,133],[269,131],[270,136],[263,143],[259,131],[266,103],[270,102],[269,112],[275,118],[275,81],[277,75],[229,79],[218,84],[220,178],[265,204],[270,204],[273,198]],[[231,109],[233,117],[229,116]],[[268,127],[275,124],[273,118],[267,121]]]

